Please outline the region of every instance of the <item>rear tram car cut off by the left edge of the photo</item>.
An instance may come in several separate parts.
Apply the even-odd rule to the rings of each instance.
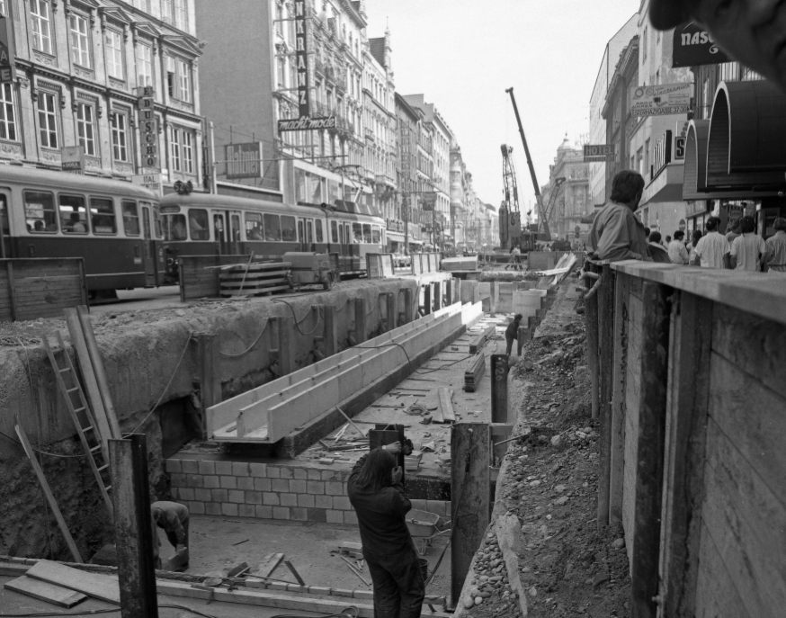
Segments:
[[[82,257],[92,298],[161,285],[158,209],[136,184],[0,165],[0,257]]]

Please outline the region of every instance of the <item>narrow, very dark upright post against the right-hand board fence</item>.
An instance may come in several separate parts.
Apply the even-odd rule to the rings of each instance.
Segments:
[[[645,282],[643,342],[640,355],[641,398],[636,462],[636,511],[633,528],[633,560],[630,564],[633,618],[655,618],[657,613],[657,560],[660,548],[660,514],[663,497],[665,441],[666,359],[669,343],[669,309],[666,290]]]

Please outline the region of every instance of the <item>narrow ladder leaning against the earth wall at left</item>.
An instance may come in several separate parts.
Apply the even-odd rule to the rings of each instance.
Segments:
[[[74,421],[76,433],[79,434],[79,440],[82,442],[82,447],[85,449],[87,461],[90,464],[91,470],[93,470],[95,480],[98,481],[98,488],[101,490],[103,501],[106,503],[106,508],[112,519],[114,512],[112,508],[112,498],[109,495],[112,490],[112,480],[109,472],[107,438],[99,433],[95,425],[93,410],[88,405],[87,399],[85,399],[85,391],[82,390],[79,378],[74,369],[74,363],[71,363],[71,357],[68,355],[66,345],[63,343],[63,337],[60,335],[59,331],[56,333],[56,336],[58,337],[60,350],[62,350],[63,356],[66,359],[66,365],[64,367],[58,365],[55,354],[49,346],[49,339],[43,336],[41,337],[41,341],[49,356],[49,363],[51,363],[52,369],[55,372],[55,378],[58,381],[60,392],[63,394],[63,399],[66,399],[68,413],[71,415],[71,420]],[[69,381],[73,383],[74,386],[69,387],[67,385],[65,376],[70,376]],[[76,393],[76,398],[78,399],[78,408],[74,407],[74,399],[71,399],[74,393]],[[86,424],[83,424],[82,418],[79,416],[80,414],[84,416]]]

